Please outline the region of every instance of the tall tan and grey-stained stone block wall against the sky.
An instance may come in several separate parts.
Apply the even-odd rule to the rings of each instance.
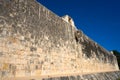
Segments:
[[[116,57],[35,0],[0,0],[0,75],[117,71]]]

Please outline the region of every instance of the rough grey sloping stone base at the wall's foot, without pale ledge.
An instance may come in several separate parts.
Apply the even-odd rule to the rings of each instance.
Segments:
[[[117,76],[116,76],[117,75]],[[42,80],[117,80],[120,79],[120,72],[94,73],[83,76],[65,76],[56,78],[43,78]],[[36,79],[37,80],[37,79]]]

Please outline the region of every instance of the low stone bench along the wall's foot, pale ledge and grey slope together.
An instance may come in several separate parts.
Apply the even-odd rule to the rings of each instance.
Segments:
[[[120,71],[91,73],[91,74],[72,74],[64,76],[31,76],[31,77],[16,77],[15,80],[119,80]],[[6,78],[6,80],[13,80],[13,77]]]

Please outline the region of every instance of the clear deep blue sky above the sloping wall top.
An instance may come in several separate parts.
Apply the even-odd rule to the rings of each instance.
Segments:
[[[78,29],[107,50],[120,51],[120,0],[37,1],[58,16],[71,16]]]

